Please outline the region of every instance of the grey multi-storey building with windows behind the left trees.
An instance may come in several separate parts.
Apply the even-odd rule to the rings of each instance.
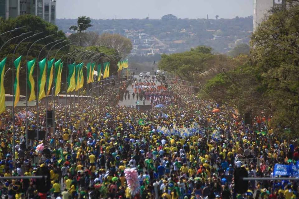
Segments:
[[[0,0],[0,17],[32,14],[56,24],[56,0]]]

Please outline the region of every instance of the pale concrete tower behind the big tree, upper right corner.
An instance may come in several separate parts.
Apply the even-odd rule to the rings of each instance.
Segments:
[[[286,0],[253,0],[253,31],[265,19],[270,9],[277,6],[286,6]]]

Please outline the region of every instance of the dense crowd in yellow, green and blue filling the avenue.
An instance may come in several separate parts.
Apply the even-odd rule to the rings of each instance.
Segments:
[[[276,163],[292,164],[298,160],[297,139],[272,136],[268,118],[261,117],[253,127],[244,128],[244,121],[234,109],[198,99],[183,87],[166,89],[158,83],[122,82],[106,88],[94,103],[70,103],[66,115],[64,104],[57,104],[55,132],[51,128],[48,137],[31,141],[27,148],[25,121],[16,117],[15,154],[12,115],[7,110],[0,123],[0,175],[34,176],[38,168],[47,167],[51,189],[46,194],[37,192],[35,179],[2,180],[2,196],[229,199],[234,196],[236,168],[245,167],[251,177],[273,177]],[[153,97],[155,101],[165,96],[171,98],[167,99],[170,103],[148,111],[120,107],[118,100],[128,95],[129,86],[136,89],[139,99]],[[219,112],[212,112],[214,108]],[[36,113],[34,109],[30,111]],[[39,123],[45,125],[43,114],[39,118]],[[201,133],[178,135],[157,130],[158,126],[191,128],[194,123],[203,129]],[[28,128],[36,129],[35,114],[29,118]],[[256,133],[261,129],[265,133]],[[211,136],[215,131],[220,137]],[[137,193],[128,186],[126,169],[138,172]],[[298,183],[252,180],[247,193],[236,197],[298,198]]]

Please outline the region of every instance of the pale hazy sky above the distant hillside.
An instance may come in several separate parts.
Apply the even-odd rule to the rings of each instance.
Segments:
[[[56,0],[57,18],[235,18],[253,15],[253,0]]]

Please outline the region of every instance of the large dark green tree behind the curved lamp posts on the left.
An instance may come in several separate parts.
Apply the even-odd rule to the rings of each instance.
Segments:
[[[7,41],[8,39],[11,39],[12,37],[21,35],[24,32],[32,31],[31,34],[28,34],[26,36],[33,35],[34,33],[38,32],[43,32],[42,34],[36,35],[35,37],[31,39],[27,39],[23,41],[19,47],[17,48],[16,54],[15,54],[15,59],[19,57],[20,55],[23,55],[22,61],[21,61],[21,66],[22,69],[20,71],[20,92],[21,95],[25,95],[25,90],[26,90],[26,83],[25,83],[25,78],[26,78],[26,53],[31,46],[31,44],[41,38],[46,37],[47,35],[53,35],[50,36],[46,39],[42,39],[36,44],[34,44],[29,51],[28,54],[28,60],[32,60],[33,58],[37,58],[40,50],[44,47],[45,44],[48,44],[50,42],[53,42],[57,39],[66,39],[66,36],[61,30],[58,30],[58,27],[56,25],[53,25],[49,22],[44,21],[38,16],[33,16],[33,15],[20,15],[16,18],[9,18],[8,20],[0,20],[0,32],[6,32],[8,30],[12,30],[15,27],[21,27],[21,26],[26,26],[23,29],[14,31],[10,34],[5,34],[0,38],[0,45]],[[7,57],[7,62],[5,68],[14,68],[12,65],[12,53],[13,50],[15,49],[17,43],[21,41],[21,39],[24,39],[25,36],[12,40],[11,42],[7,43],[3,49],[0,52],[0,60],[3,58]],[[68,42],[64,42],[62,44],[56,45],[54,49],[52,49],[50,53],[50,57],[55,54],[55,51],[62,46],[68,44]],[[40,54],[40,59],[44,58],[46,54],[48,54],[48,50],[52,47],[52,45],[49,45],[49,48],[45,48],[41,54]],[[57,57],[61,57],[63,54],[67,53],[69,51],[69,47],[65,47],[59,51],[59,54]],[[36,79],[36,72],[34,73],[34,79]],[[4,87],[5,87],[5,92],[6,94],[11,94],[12,93],[12,70],[8,71],[5,80],[4,80]],[[36,84],[37,85],[37,84]]]

